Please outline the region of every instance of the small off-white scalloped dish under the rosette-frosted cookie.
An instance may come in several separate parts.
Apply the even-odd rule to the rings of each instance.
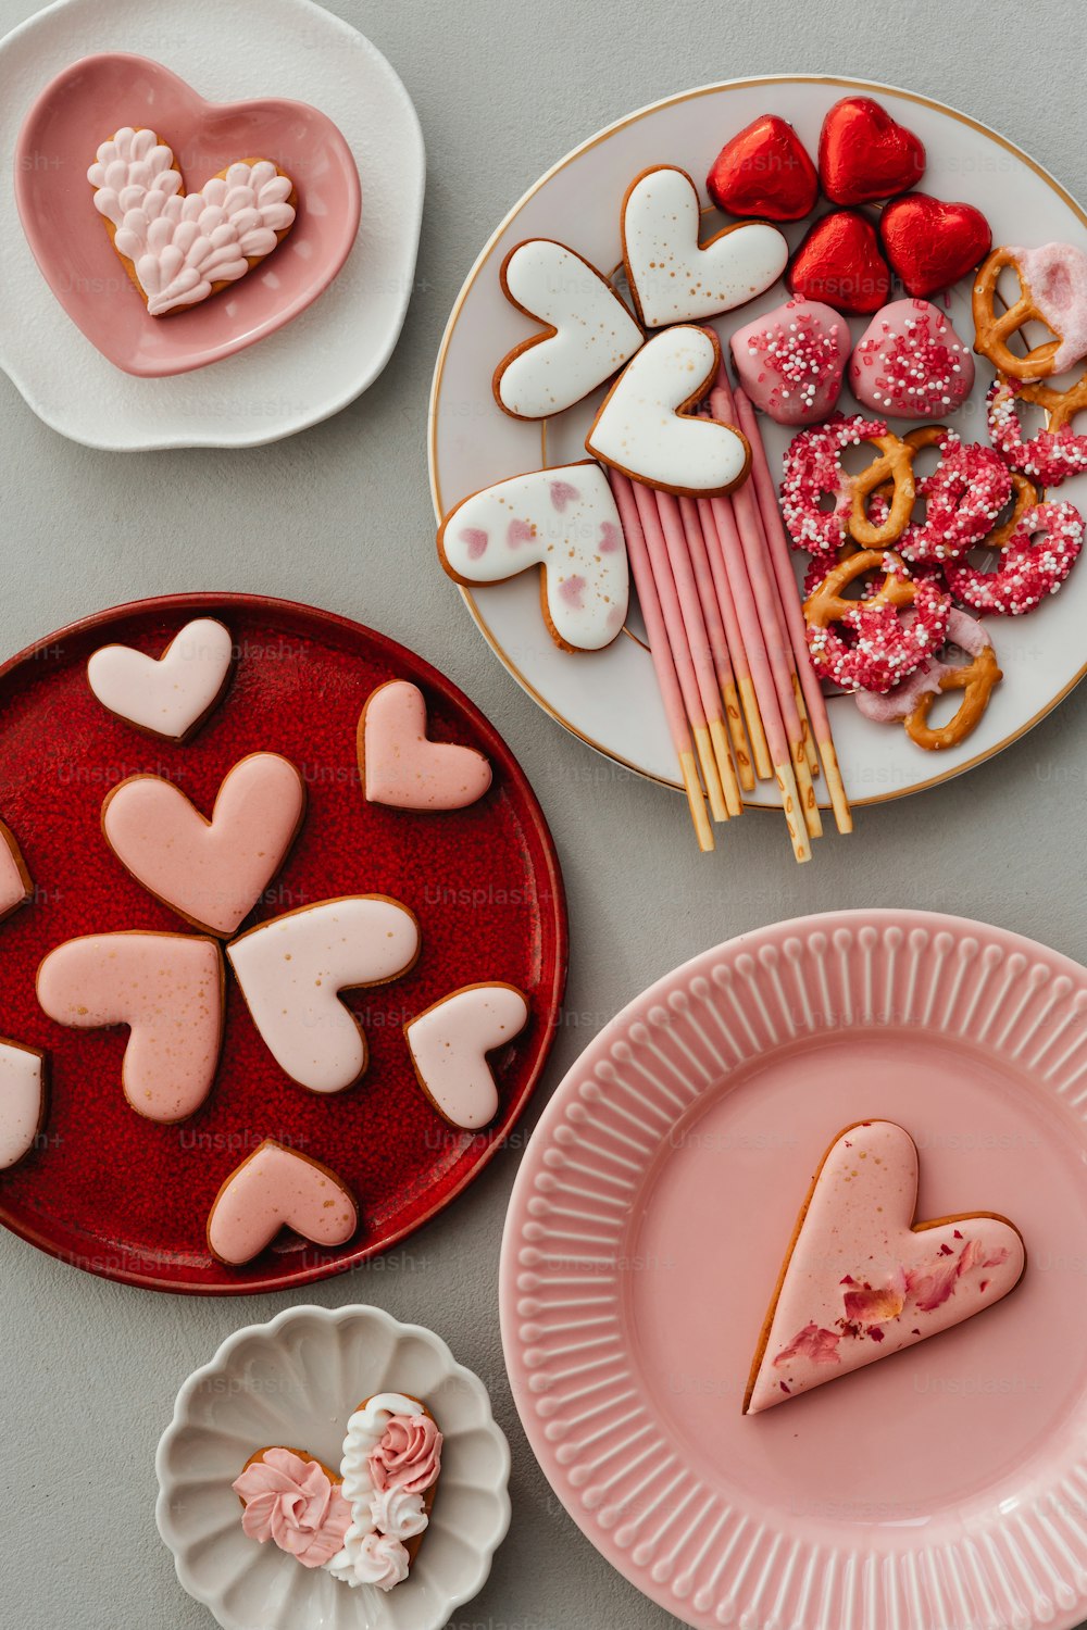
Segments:
[[[352,1412],[391,1390],[425,1399],[445,1439],[407,1579],[350,1589],[248,1539],[231,1485],[249,1456],[297,1446],[339,1467]],[[482,1589],[510,1522],[510,1452],[484,1384],[440,1337],[378,1307],[292,1307],[228,1337],[178,1394],[156,1470],[158,1532],[223,1630],[440,1630]]]

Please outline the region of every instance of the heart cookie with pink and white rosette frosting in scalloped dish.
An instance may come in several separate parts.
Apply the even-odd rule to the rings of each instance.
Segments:
[[[347,1423],[339,1472],[303,1449],[257,1449],[235,1480],[249,1539],[342,1584],[403,1584],[430,1524],[442,1433],[406,1392],[365,1399]]]

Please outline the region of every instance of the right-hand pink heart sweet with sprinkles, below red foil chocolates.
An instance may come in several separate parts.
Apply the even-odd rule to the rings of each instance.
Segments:
[[[849,362],[849,388],[890,419],[944,419],[973,390],[970,346],[927,300],[891,300],[875,313]]]

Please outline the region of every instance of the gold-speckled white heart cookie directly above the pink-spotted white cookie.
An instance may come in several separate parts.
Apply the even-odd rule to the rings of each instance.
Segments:
[[[495,401],[513,419],[546,419],[580,403],[629,362],[645,337],[614,289],[564,243],[518,243],[502,262],[500,279],[505,298],[544,326],[495,368]]]

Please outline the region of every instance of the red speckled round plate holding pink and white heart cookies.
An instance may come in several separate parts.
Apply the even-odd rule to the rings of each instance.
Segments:
[[[111,641],[158,654],[197,615],[217,616],[233,632],[230,689],[187,747],[152,742],[99,706],[86,659]],[[370,691],[393,678],[420,686],[437,738],[491,760],[494,786],[474,807],[425,815],[363,800],[355,725]],[[259,750],[300,766],[310,802],[287,866],[248,923],[332,895],[386,893],[419,918],[422,954],[406,978],[347,998],[367,1029],[370,1068],[357,1087],[331,1099],[280,1073],[231,983],[207,1104],[187,1121],[156,1125],[134,1113],[121,1090],[127,1030],[54,1024],[37,1007],[34,975],[46,952],[75,934],[184,927],[106,846],[99,812],[109,787],[150,771],[207,812],[230,766]],[[525,1108],[566,983],[559,861],[502,738],[403,645],[329,611],[256,595],[171,595],[103,611],[0,668],[0,817],[36,885],[34,900],[0,927],[0,1032],[46,1050],[52,1079],[39,1146],[0,1174],[0,1221],[51,1255],[129,1284],[204,1296],[308,1284],[435,1216]],[[520,986],[531,1017],[497,1058],[499,1117],[473,1136],[447,1126],[420,1092],[403,1024],[479,980]],[[264,1138],[323,1161],[350,1183],[362,1219],[342,1250],[284,1239],[246,1268],[210,1257],[209,1206]]]

